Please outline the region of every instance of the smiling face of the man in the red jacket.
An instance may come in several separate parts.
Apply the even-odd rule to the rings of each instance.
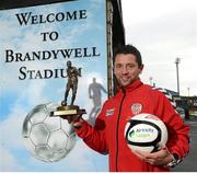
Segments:
[[[115,76],[121,86],[132,83],[143,69],[143,66],[138,66],[136,56],[132,54],[117,54],[114,66]]]

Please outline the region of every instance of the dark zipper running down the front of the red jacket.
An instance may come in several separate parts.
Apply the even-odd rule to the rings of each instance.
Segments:
[[[118,137],[119,137],[119,118],[120,118],[120,113],[121,113],[121,106],[123,106],[123,102],[124,102],[124,99],[126,96],[126,93],[125,93],[125,90],[123,89],[123,99],[121,99],[121,102],[120,102],[120,105],[119,105],[119,113],[118,113],[118,118],[117,118],[117,127],[116,127],[116,172],[118,172],[118,148],[119,148],[119,142],[118,142]]]

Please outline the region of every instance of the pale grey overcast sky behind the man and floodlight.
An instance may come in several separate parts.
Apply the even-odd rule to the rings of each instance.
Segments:
[[[179,64],[181,95],[197,95],[197,1],[121,0],[126,43],[142,54],[141,79],[177,91],[175,59]]]

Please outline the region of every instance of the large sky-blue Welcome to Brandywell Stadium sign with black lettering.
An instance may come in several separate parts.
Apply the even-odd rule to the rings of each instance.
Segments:
[[[80,139],[65,159],[45,163],[22,138],[33,107],[63,100],[68,61],[81,69],[74,103],[94,123],[108,89],[106,9],[105,0],[79,0],[0,11],[0,171],[108,170],[106,157]]]

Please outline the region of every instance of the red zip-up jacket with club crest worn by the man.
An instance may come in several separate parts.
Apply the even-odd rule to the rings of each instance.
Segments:
[[[96,118],[95,126],[85,122],[77,129],[79,137],[93,150],[109,154],[109,171],[170,171],[169,168],[151,165],[142,162],[128,148],[124,130],[128,117],[138,113],[159,116],[169,130],[167,148],[171,152],[184,158],[188,150],[189,127],[184,125],[165,95],[143,84],[140,79],[120,89],[107,100]]]

